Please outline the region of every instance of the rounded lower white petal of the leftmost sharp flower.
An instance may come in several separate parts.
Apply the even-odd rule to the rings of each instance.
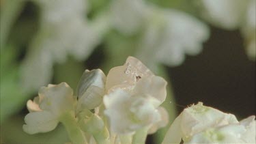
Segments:
[[[49,132],[55,129],[58,122],[53,113],[47,111],[33,112],[26,115],[26,124],[23,125],[23,130],[29,134]]]

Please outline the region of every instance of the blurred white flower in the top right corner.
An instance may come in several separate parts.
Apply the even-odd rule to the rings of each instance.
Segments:
[[[205,20],[224,29],[240,29],[246,53],[255,61],[256,12],[255,0],[201,0],[201,14]]]

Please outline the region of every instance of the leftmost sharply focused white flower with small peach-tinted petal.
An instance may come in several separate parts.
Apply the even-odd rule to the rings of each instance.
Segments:
[[[27,102],[27,109],[30,113],[25,117],[25,132],[35,134],[51,131],[63,113],[74,111],[73,91],[66,83],[41,87],[38,97]]]

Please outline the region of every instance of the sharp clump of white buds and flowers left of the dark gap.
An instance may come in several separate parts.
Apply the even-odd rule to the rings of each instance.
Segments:
[[[85,70],[76,96],[66,83],[42,87],[27,102],[29,114],[23,130],[48,132],[61,122],[72,143],[145,143],[168,122],[160,106],[167,82],[155,76],[134,57],[105,76],[102,70]]]

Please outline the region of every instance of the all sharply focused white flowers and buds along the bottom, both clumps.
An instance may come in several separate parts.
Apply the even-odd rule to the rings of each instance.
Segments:
[[[167,82],[141,61],[128,57],[105,76],[85,70],[76,95],[66,83],[42,87],[27,102],[23,130],[29,134],[54,130],[59,122],[72,143],[145,143],[147,134],[167,125],[160,106]],[[173,121],[163,144],[255,143],[255,116],[238,121],[235,115],[203,106],[189,106]]]

